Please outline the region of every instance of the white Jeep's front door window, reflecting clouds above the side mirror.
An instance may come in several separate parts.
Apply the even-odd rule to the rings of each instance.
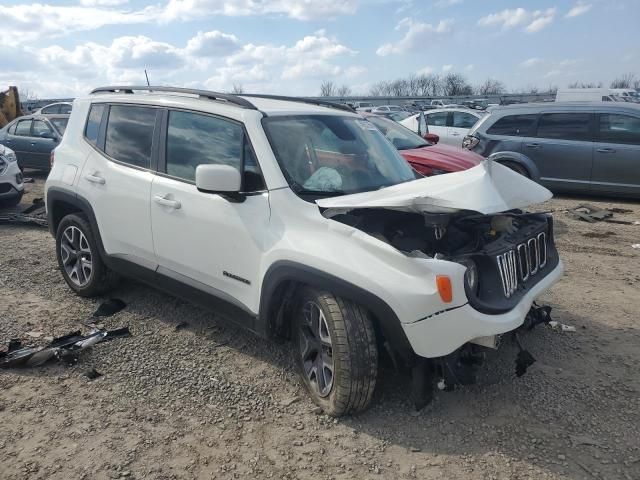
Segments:
[[[225,164],[240,170],[242,127],[199,113],[171,111],[167,127],[167,174],[195,181],[196,167]]]

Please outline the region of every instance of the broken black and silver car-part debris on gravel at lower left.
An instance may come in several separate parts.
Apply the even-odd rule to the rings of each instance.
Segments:
[[[100,342],[129,336],[129,328],[123,327],[116,330],[95,329],[88,335],[80,335],[80,331],[77,330],[54,338],[44,347],[23,347],[20,340],[12,339],[7,351],[0,352],[0,368],[36,367],[52,359],[75,363],[82,350]]]

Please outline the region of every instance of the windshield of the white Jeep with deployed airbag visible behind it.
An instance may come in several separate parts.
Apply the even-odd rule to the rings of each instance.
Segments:
[[[301,194],[349,194],[415,180],[411,167],[371,122],[296,115],[262,120],[291,188]]]

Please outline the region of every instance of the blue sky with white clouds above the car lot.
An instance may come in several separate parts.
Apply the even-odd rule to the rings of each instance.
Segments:
[[[510,91],[640,76],[640,0],[0,0],[0,90],[318,95],[463,73]]]

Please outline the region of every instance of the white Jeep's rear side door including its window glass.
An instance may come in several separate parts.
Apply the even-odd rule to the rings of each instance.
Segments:
[[[106,252],[151,270],[157,267],[149,210],[161,112],[93,104],[84,140],[95,148],[78,181],[78,194],[93,207]]]

